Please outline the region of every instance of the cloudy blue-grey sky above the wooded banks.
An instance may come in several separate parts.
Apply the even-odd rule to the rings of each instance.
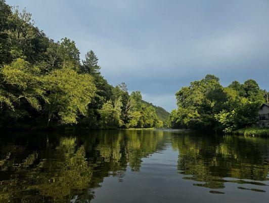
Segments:
[[[125,82],[167,111],[206,74],[223,86],[254,79],[269,91],[268,0],[6,0],[49,38],[89,50],[112,85]]]

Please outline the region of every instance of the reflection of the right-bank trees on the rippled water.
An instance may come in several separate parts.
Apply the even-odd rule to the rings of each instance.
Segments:
[[[179,173],[192,175],[184,179],[202,182],[195,186],[225,188],[227,182],[266,186],[257,182],[268,180],[269,142],[266,139],[201,135],[174,136],[172,140],[173,147],[180,152]]]

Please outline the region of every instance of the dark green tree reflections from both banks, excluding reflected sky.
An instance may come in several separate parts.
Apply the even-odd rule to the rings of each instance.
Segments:
[[[143,168],[143,158],[165,154],[169,147],[178,151],[178,160],[177,171],[167,172],[167,177],[183,175],[193,189],[202,186],[223,194],[218,189],[231,183],[238,191],[267,191],[266,139],[161,130],[24,132],[2,133],[0,147],[3,202],[89,202],[105,177],[122,184],[127,168],[134,176]]]

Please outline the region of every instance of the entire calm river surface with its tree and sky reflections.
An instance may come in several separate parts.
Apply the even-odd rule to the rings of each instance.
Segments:
[[[2,132],[0,202],[267,202],[269,139]]]

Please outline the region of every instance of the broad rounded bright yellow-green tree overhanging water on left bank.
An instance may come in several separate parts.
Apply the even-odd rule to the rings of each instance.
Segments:
[[[44,76],[44,89],[48,125],[56,117],[60,124],[77,123],[78,113],[86,115],[96,91],[92,76],[77,74],[71,67]]]

